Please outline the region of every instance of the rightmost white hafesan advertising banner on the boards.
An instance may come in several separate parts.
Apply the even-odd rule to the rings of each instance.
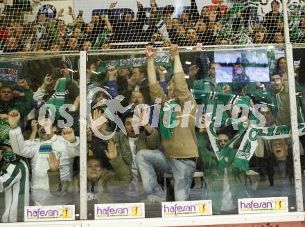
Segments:
[[[288,212],[288,197],[238,199],[238,214]]]

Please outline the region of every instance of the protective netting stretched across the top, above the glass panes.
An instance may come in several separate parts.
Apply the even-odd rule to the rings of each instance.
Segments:
[[[304,7],[288,1],[293,42],[304,42]],[[6,0],[0,8],[3,52],[284,43],[277,0]]]

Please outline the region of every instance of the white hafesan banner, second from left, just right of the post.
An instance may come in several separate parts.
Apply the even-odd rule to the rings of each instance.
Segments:
[[[94,219],[145,218],[144,203],[109,203],[94,205]]]

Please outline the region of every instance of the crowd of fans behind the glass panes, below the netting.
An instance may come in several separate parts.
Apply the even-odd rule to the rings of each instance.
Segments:
[[[198,53],[193,55],[200,59]],[[290,125],[285,58],[277,60],[270,82],[218,83],[216,69],[220,64],[215,62],[214,53],[208,55],[207,71],[195,63],[184,65],[180,60],[183,55],[173,44],[171,67],[158,66],[154,62],[153,46],[147,46],[147,66],[121,69],[110,66],[105,73],[98,72],[101,59],[89,57],[87,96],[92,97],[89,103],[92,124],[87,126],[89,214],[92,215],[94,203],[144,201],[155,206],[162,201],[189,200],[195,171],[204,173],[201,179],[204,192],[200,199],[212,199],[214,214],[234,213],[237,199],[251,196],[255,187],[247,188],[247,181],[252,183],[252,176],[247,174],[249,168],[258,172],[261,184],[265,185],[268,178],[269,185],[277,187],[277,196],[286,196],[287,185],[293,183],[289,139],[259,138],[248,167],[238,168],[233,166],[233,158],[241,141],[237,140],[223,154],[225,162],[222,163],[216,158],[208,128],[196,123],[196,111],[204,105],[199,121],[204,124],[209,118],[220,124],[212,130],[216,132],[219,149],[245,129],[239,123],[256,119],[252,113],[255,104],[265,104],[265,108],[259,109],[265,118],[264,127]],[[24,206],[28,205],[78,205],[81,110],[76,71],[61,63],[58,68],[51,68],[43,80],[25,76],[10,83],[1,80],[0,215],[3,222],[22,221]],[[96,88],[105,90],[93,96]],[[304,123],[299,84],[296,90],[298,122]],[[211,92],[216,92],[218,98],[211,98]],[[217,106],[227,105],[235,95],[245,100],[250,110],[246,118],[238,115],[238,130],[234,129],[232,120],[236,105],[232,104],[221,118],[216,116]],[[64,104],[73,105],[64,112],[69,118],[60,111]],[[186,127],[182,123],[185,116],[188,116]],[[172,127],[176,120],[179,123]],[[164,194],[165,185],[160,180],[164,172],[171,172],[173,176],[166,183],[168,195]],[[6,203],[2,202],[4,199]]]

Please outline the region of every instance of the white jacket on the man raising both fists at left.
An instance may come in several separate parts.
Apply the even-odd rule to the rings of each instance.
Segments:
[[[40,139],[24,140],[21,134],[21,129],[10,129],[10,143],[12,150],[26,158],[31,158],[30,164],[32,168],[32,189],[33,199],[35,205],[46,206],[65,204],[69,198],[55,197],[50,194],[49,177],[47,171],[49,170],[49,163],[46,158],[49,153],[41,153]],[[76,138],[74,143],[70,143],[62,136],[54,135],[51,140],[43,141],[43,143],[51,143],[52,150],[57,158],[60,158],[60,178],[62,181],[71,181],[73,176],[73,158],[80,155],[79,144],[80,141]],[[65,201],[64,199],[68,199]]]

